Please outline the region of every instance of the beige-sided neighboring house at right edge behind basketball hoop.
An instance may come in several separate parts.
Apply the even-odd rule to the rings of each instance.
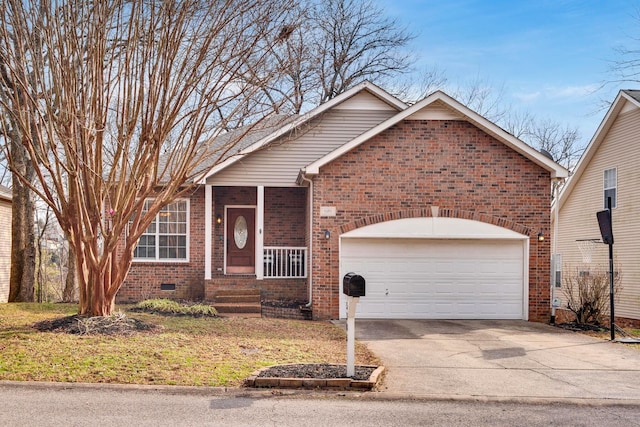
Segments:
[[[565,280],[587,271],[608,272],[608,246],[581,242],[601,239],[596,212],[612,198],[614,261],[622,285],[616,318],[640,319],[639,138],[640,91],[620,91],[552,211],[554,221],[557,214],[556,252],[562,255]],[[561,290],[557,296],[565,306]]]

